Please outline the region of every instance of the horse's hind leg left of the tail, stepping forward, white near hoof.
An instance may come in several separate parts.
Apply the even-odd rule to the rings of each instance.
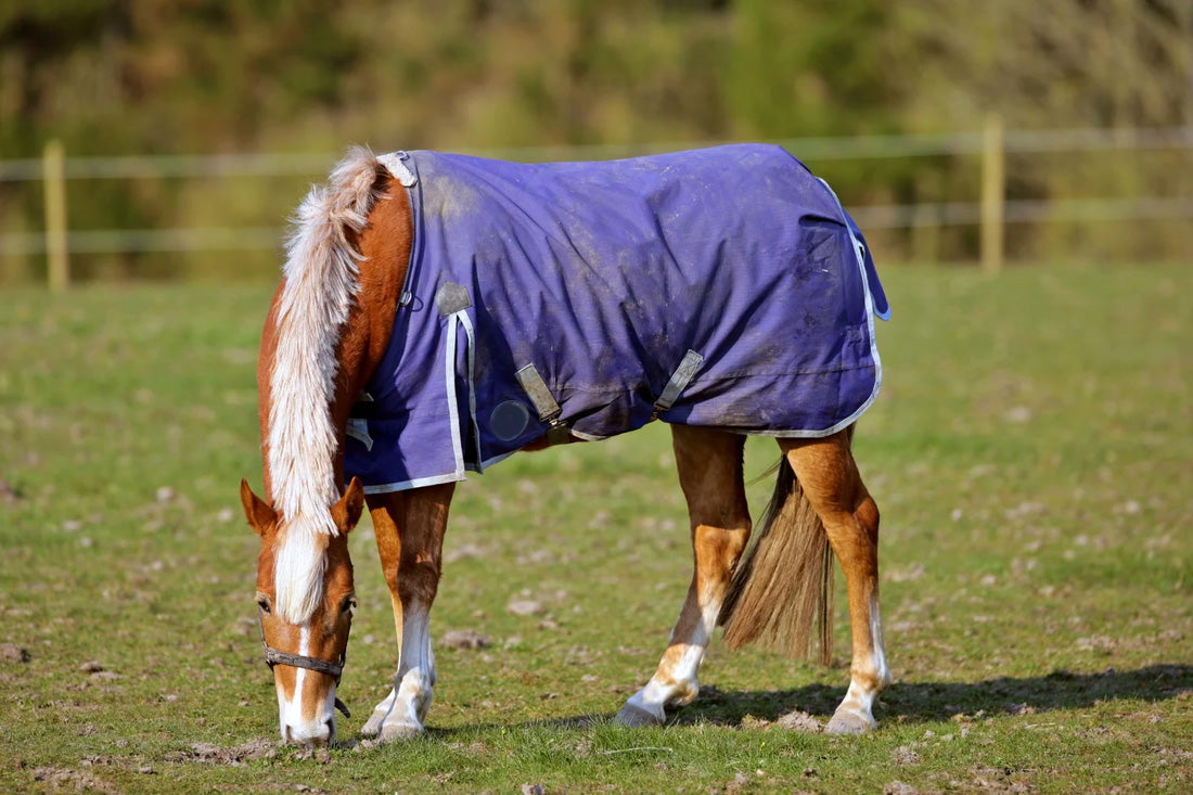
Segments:
[[[617,720],[628,726],[662,723],[665,707],[696,698],[704,651],[729,591],[734,566],[749,538],[749,509],[742,483],[744,437],[684,425],[672,426],[672,435],[692,523],[696,567],[659,670],[617,714]]]

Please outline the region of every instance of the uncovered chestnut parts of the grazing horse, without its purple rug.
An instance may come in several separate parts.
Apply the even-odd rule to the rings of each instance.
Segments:
[[[410,475],[408,482],[392,488],[376,483],[366,488],[352,476],[344,486],[346,472],[356,474],[345,466],[354,406],[382,366],[403,309],[420,300],[431,301],[428,294],[412,295],[409,288],[407,270],[419,245],[418,208],[410,189],[419,175],[403,158],[378,158],[354,149],[338,165],[327,187],[313,189],[298,210],[283,281],[261,338],[258,387],[265,499],[241,481],[241,501],[261,540],[256,602],[286,742],[329,744],[335,738],[335,709],[347,713],[335,696],[356,608],[347,536],[365,503],[390,590],[398,661],[392,689],[377,704],[363,733],[382,740],[422,733],[435,685],[428,620],[441,571],[449,509],[462,473],[422,480]],[[429,179],[426,174],[422,178]],[[741,204],[746,208],[741,211],[752,211],[748,196]],[[843,210],[822,210],[820,218],[816,223],[827,224],[830,233],[846,235],[841,238],[846,246],[851,240],[857,246],[848,248],[845,265],[855,273],[864,261],[860,233],[849,230],[852,221]],[[718,251],[724,248],[723,242],[716,245]],[[816,265],[817,272],[829,272],[824,263]],[[873,278],[872,263],[870,266]],[[861,278],[865,295],[858,300],[864,298],[866,313],[863,332],[870,322],[864,351],[869,353],[873,332],[869,315],[877,312],[882,316],[871,294],[880,288],[877,283],[865,286],[865,276]],[[444,314],[466,315],[462,306],[457,301]],[[796,310],[789,307],[785,312]],[[468,325],[470,338],[472,331]],[[792,344],[798,344],[798,338]],[[472,364],[458,352],[447,358],[450,363]],[[725,625],[730,647],[761,642],[790,653],[809,649],[818,623],[821,658],[828,661],[835,554],[848,586],[853,661],[848,692],[827,731],[870,731],[876,727],[873,701],[891,677],[878,617],[878,509],[863,485],[851,440],[857,415],[878,390],[877,352],[871,363],[873,394],[843,420],[795,433],[781,432],[783,426],[755,431],[774,436],[781,456],[762,530],[744,557],[752,524],[742,482],[742,450],[743,433],[750,431],[729,419],[724,427],[709,426],[693,421],[697,414],[688,409],[675,413],[670,408],[674,393],[687,382],[699,383],[699,376],[692,381],[691,370],[699,365],[696,359],[682,378],[673,375],[670,382],[666,377],[660,382],[679,389],[670,389],[669,400],[660,396],[633,424],[655,418],[672,424],[679,483],[691,518],[694,571],[657,670],[625,702],[617,720],[629,726],[659,725],[666,720],[666,708],[694,700],[700,662],[718,623]],[[441,372],[414,376],[427,383],[443,382]],[[781,389],[777,382],[774,390]],[[532,383],[527,393],[533,393]],[[781,392],[775,398],[796,401]],[[452,419],[458,419],[457,405],[466,411],[469,399],[475,402],[476,395],[466,390],[465,396],[453,399]],[[533,396],[531,402],[532,408],[539,407]],[[580,423],[569,430],[568,403],[563,402],[562,412],[554,417],[542,412],[538,424],[527,419],[525,408],[508,409],[502,423],[512,421],[515,430],[528,427],[533,437],[511,445],[533,450],[599,436],[581,433]],[[737,414],[725,411],[723,415]],[[496,423],[497,411],[493,418]],[[685,418],[688,421],[682,421]],[[499,437],[511,433],[517,436],[502,431]],[[465,444],[472,442],[468,437]]]

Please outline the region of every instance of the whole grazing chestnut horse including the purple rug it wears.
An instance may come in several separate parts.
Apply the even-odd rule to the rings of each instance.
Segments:
[[[828,662],[835,555],[853,655],[826,729],[876,728],[891,680],[879,516],[852,439],[889,308],[860,230],[802,162],[759,144],[533,165],[353,148],[301,204],[286,253],[258,362],[265,497],[241,481],[285,742],[332,744],[347,715],[347,537],[366,506],[398,655],[361,734],[389,741],[426,731],[428,621],[465,469],[653,420],[670,425],[694,568],[616,720],[661,725],[692,702],[718,623],[730,648],[818,646]],[[748,435],[779,457],[747,550]]]

